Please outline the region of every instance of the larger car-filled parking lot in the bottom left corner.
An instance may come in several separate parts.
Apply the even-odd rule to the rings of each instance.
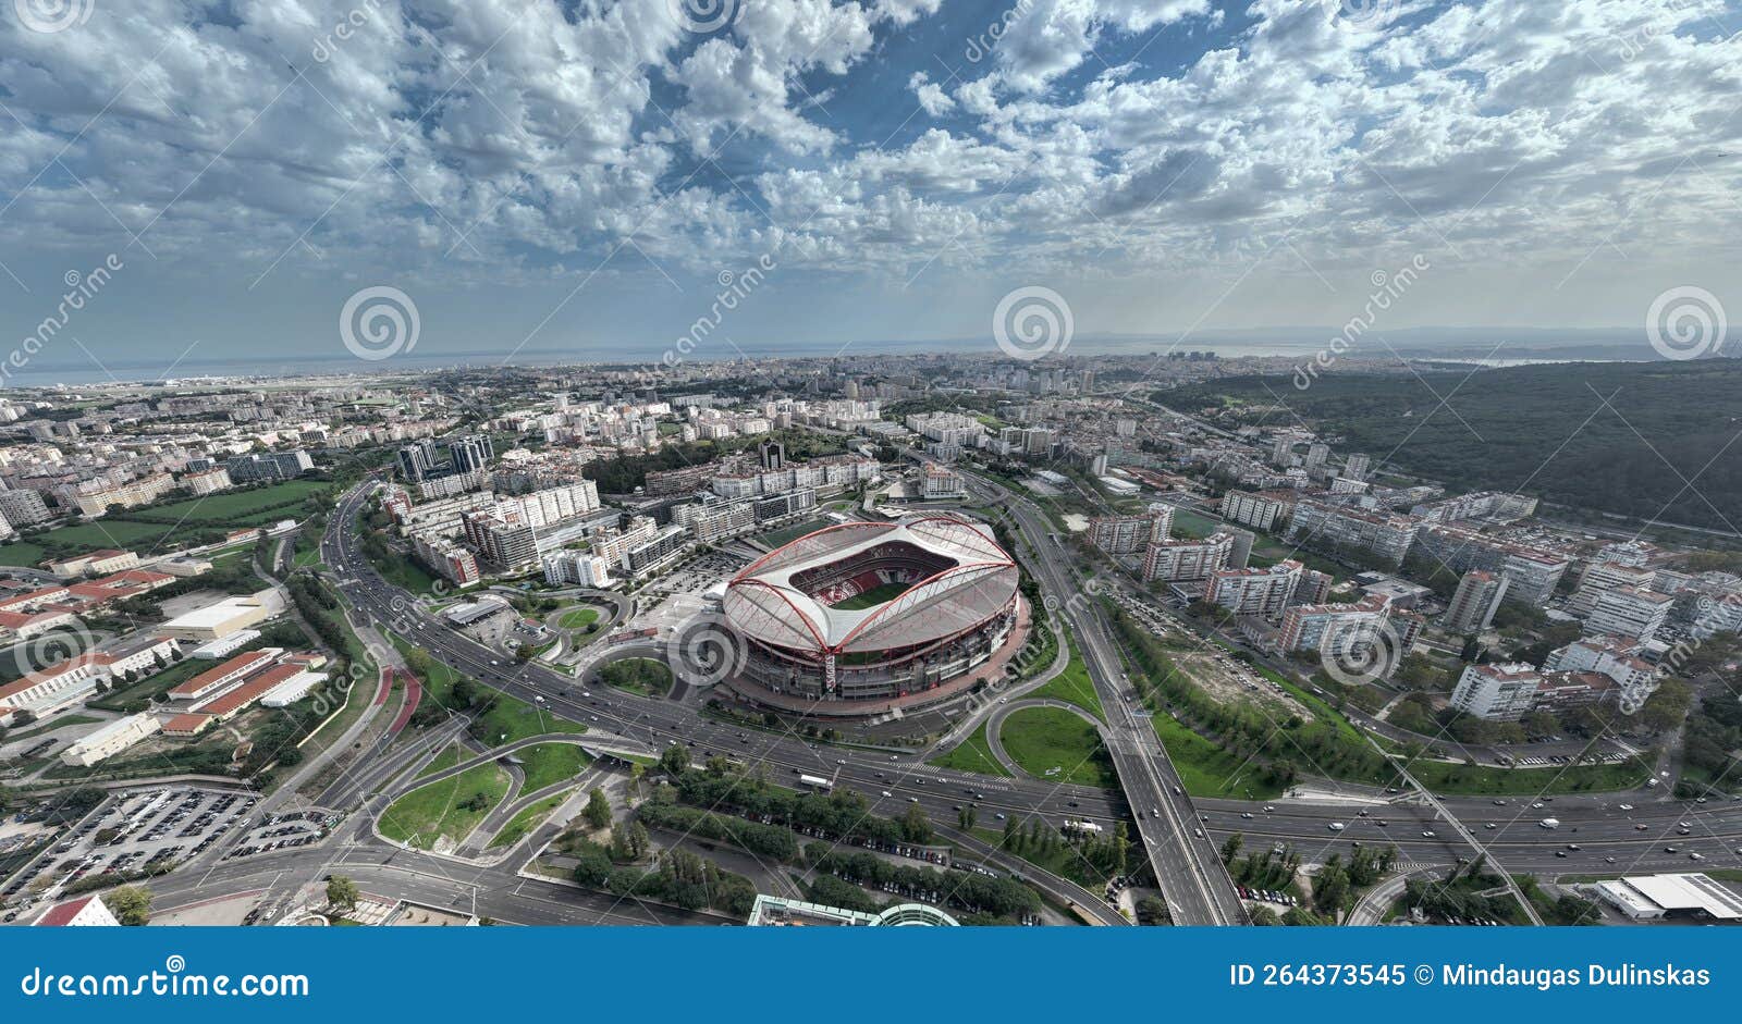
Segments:
[[[204,853],[258,801],[246,792],[195,787],[111,798],[12,878],[0,900],[24,909],[91,876],[125,881],[162,874]]]

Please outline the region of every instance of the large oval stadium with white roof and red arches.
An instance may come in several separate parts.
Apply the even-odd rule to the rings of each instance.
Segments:
[[[1014,650],[1026,618],[1017,580],[989,531],[963,519],[819,529],[726,585],[739,690],[817,714],[942,700]]]

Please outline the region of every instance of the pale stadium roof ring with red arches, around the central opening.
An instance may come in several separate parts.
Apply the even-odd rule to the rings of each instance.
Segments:
[[[793,583],[800,573],[890,543],[911,545],[946,568],[862,610],[829,608]],[[841,522],[801,536],[733,576],[725,613],[737,629],[763,643],[815,655],[876,651],[972,629],[996,615],[1016,596],[1016,563],[972,522],[948,515]]]

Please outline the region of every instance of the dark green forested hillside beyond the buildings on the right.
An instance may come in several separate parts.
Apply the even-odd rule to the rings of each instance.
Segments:
[[[1293,423],[1280,399],[1319,432],[1341,435],[1341,451],[1455,489],[1519,489],[1573,509],[1742,529],[1742,362],[1578,362],[1465,376],[1333,371],[1305,392],[1291,378],[1246,376],[1153,397],[1223,421]],[[1435,392],[1449,395],[1446,408]]]

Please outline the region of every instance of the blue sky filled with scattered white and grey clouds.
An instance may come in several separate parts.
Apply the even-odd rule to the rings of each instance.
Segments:
[[[1183,348],[1643,336],[1667,293],[1742,315],[1737,30],[1733,0],[5,0],[0,360],[989,345],[1014,293]]]

